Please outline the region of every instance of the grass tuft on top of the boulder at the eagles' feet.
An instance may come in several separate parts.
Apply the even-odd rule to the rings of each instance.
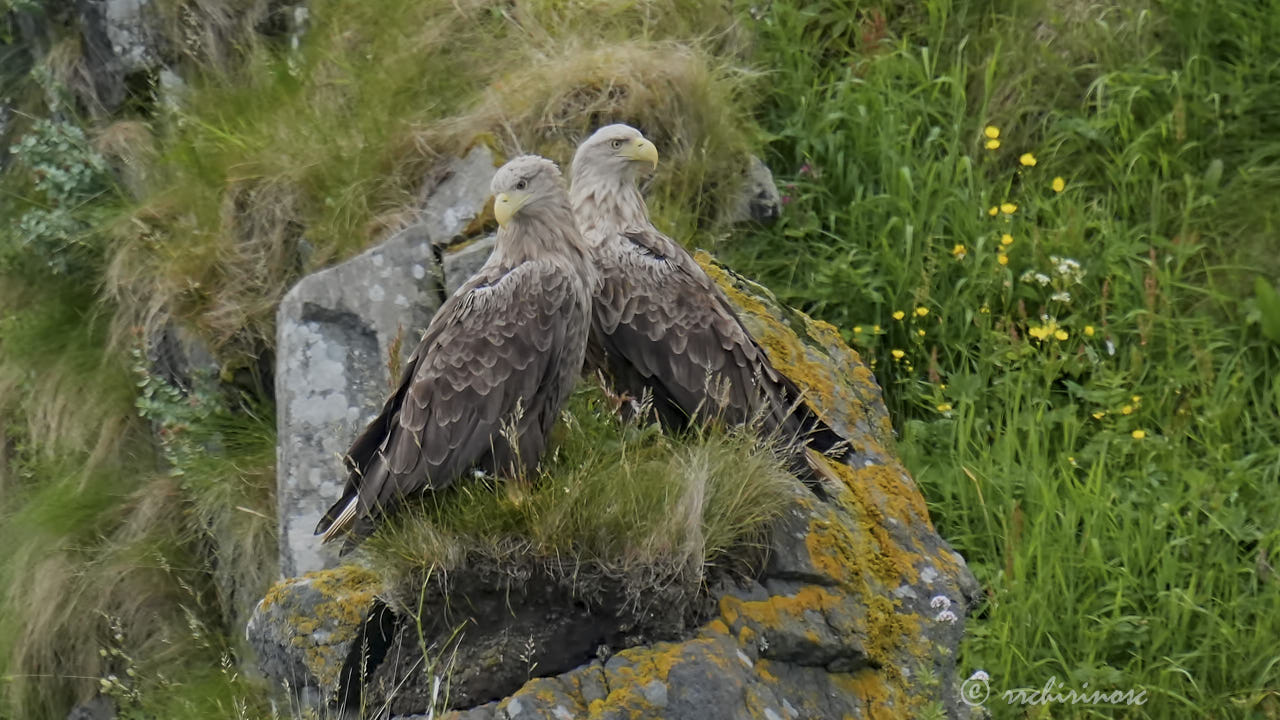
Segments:
[[[535,474],[461,482],[407,506],[361,551],[387,587],[415,597],[439,573],[530,564],[575,582],[622,580],[637,596],[667,585],[692,594],[713,569],[750,571],[794,486],[777,448],[754,433],[709,427],[672,438],[620,420],[585,384]]]

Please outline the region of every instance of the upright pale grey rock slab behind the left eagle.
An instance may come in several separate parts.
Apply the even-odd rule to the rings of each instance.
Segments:
[[[438,306],[430,238],[417,225],[303,278],[280,302],[276,502],[284,577],[335,564],[312,530],[340,496],[342,454],[387,400],[394,343],[403,361]]]

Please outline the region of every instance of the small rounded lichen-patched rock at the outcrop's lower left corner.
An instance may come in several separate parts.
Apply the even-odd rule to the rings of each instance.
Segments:
[[[306,706],[330,700],[378,589],[376,575],[353,565],[276,583],[246,629],[259,667]]]

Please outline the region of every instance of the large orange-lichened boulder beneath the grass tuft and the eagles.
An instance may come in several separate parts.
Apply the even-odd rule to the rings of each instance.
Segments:
[[[563,571],[451,571],[448,585],[422,588],[424,621],[380,603],[323,628],[303,615],[305,630],[347,647],[307,665],[278,633],[279,656],[302,657],[278,664],[291,682],[346,702],[358,691],[393,715],[447,705],[470,720],[961,716],[955,661],[977,584],[896,459],[874,378],[829,324],[699,261],[856,451],[852,465],[826,462],[824,497],[795,483],[763,571],[639,605],[603,585],[566,588]],[[278,587],[273,602],[291,592]],[[255,620],[256,632],[278,621]]]

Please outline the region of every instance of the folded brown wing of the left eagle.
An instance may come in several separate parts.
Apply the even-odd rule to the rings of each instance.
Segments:
[[[396,392],[352,443],[343,496],[316,534],[332,539],[357,518],[371,521],[471,468],[535,464],[563,400],[563,365],[581,361],[581,342],[572,357],[573,315],[586,307],[573,282],[553,263],[532,260],[484,268],[449,297]],[[520,438],[516,447],[507,436]]]

